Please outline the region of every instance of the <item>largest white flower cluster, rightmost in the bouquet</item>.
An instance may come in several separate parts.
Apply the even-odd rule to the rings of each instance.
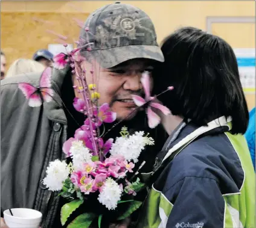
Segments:
[[[146,145],[153,145],[154,140],[151,137],[143,136],[144,132],[135,132],[128,137],[119,137],[112,144],[111,155],[123,155],[127,161],[138,162],[139,155]]]

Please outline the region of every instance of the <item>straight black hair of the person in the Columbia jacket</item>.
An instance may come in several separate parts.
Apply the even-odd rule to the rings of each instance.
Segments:
[[[156,67],[154,94],[173,115],[205,126],[220,116],[232,117],[232,134],[244,134],[248,107],[234,51],[225,40],[197,28],[180,28],[162,43],[165,62]]]

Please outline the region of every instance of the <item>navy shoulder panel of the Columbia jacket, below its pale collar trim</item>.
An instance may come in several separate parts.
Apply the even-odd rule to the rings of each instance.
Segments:
[[[239,191],[245,173],[228,137],[218,134],[200,138],[179,152],[168,164],[164,188],[170,188],[185,177],[213,179],[225,194]]]

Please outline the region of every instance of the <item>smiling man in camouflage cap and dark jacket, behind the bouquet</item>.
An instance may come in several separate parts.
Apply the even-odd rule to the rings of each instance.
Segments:
[[[123,119],[136,107],[131,95],[142,93],[142,72],[151,72],[156,62],[164,61],[153,23],[139,8],[115,2],[88,17],[79,46],[88,42],[94,46],[91,51],[83,50],[86,61],[82,64],[98,77],[99,105],[110,103],[117,119]],[[74,135],[75,122],[83,124],[84,116],[72,106],[79,94],[73,88],[78,82],[70,66],[53,69],[52,76],[53,89],[62,97],[65,108],[54,100],[40,108],[28,106],[18,84],[29,82],[38,86],[39,79],[40,75],[31,73],[1,82],[1,214],[8,208],[33,208],[43,213],[42,227],[59,228],[63,202],[56,199],[58,193],[45,188],[42,179],[50,161],[64,158],[62,145]],[[91,75],[87,80],[91,84]],[[135,115],[136,118],[132,118]],[[150,132],[145,116],[141,119],[139,115],[131,115],[126,126]],[[112,137],[117,137],[119,131],[120,128],[116,128]],[[150,134],[154,137],[154,133]],[[158,137],[160,134],[158,130]],[[154,158],[150,159],[147,150],[140,159],[151,167]],[[1,228],[4,226],[2,221]]]

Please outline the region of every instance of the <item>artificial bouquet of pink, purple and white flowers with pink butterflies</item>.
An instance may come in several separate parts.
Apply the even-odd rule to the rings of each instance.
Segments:
[[[89,52],[91,45],[93,43],[86,43],[82,48]],[[97,84],[87,83],[86,69],[81,64],[85,57],[80,54],[80,50],[81,48],[77,48],[67,54],[56,55],[54,67],[63,69],[66,64],[72,67],[72,73],[80,84],[78,87],[74,86],[74,89],[82,95],[82,98],[75,97],[73,105],[78,112],[85,115],[85,122],[75,131],[74,137],[63,144],[63,152],[70,162],[50,162],[43,179],[50,191],[60,191],[59,196],[69,200],[62,207],[60,215],[62,225],[68,223],[68,228],[89,227],[95,219],[100,227],[103,217],[122,220],[136,211],[142,202],[134,200],[134,196],[144,187],[144,183],[136,176],[144,162],[136,171],[133,169],[144,147],[154,144],[153,138],[145,132],[139,131],[130,135],[126,127],[121,129],[120,137],[115,138],[115,141],[112,138],[103,140],[106,133],[100,131],[101,125],[114,122],[117,114],[110,110],[108,103],[98,105],[100,94]],[[93,81],[97,81],[93,70],[90,73]],[[51,70],[46,69],[38,88],[29,84],[19,85],[30,106],[40,106],[42,102],[53,99],[50,77]],[[164,114],[169,114],[170,111],[154,102],[154,97],[150,96],[147,72],[142,75],[141,82],[146,97],[144,99],[133,95],[133,100],[138,106],[147,105],[149,126],[155,128],[160,118],[152,108],[160,109]],[[168,87],[167,90],[171,89],[172,87]],[[82,212],[69,221],[71,214],[78,208]]]

